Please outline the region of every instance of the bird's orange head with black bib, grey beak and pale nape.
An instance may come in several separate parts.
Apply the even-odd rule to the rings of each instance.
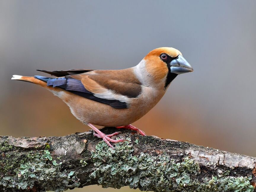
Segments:
[[[137,65],[142,73],[141,79],[162,84],[166,88],[179,74],[192,72],[193,68],[182,56],[181,52],[172,47],[160,47],[152,50]]]

